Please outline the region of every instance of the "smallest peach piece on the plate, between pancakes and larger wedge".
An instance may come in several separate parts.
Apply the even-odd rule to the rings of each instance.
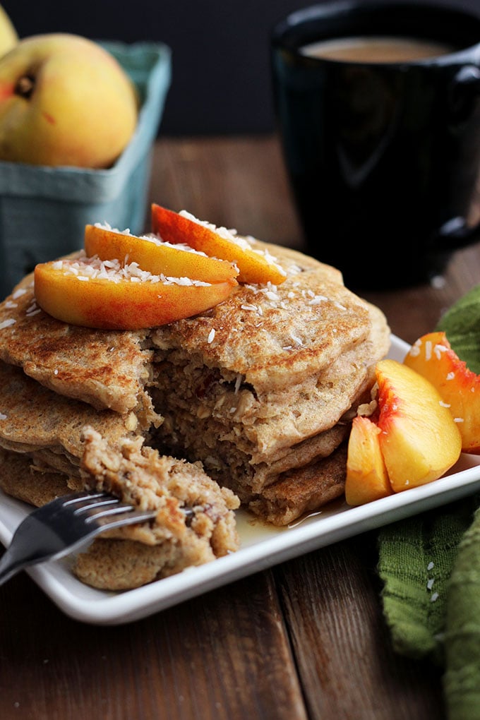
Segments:
[[[381,454],[380,433],[380,428],[369,418],[358,415],[353,419],[345,480],[348,505],[363,505],[393,494]]]

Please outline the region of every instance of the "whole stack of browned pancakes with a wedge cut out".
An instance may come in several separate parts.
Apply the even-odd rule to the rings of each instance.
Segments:
[[[212,310],[151,330],[61,323],[37,307],[31,276],[14,289],[0,305],[6,492],[40,504],[62,487],[98,486],[107,451],[118,464],[134,444],[137,461],[155,451],[155,462],[168,456],[183,463],[184,475],[201,472],[202,492],[208,485],[216,503],[211,547],[212,528],[223,523],[215,555],[237,544],[227,520],[235,496],[284,525],[343,493],[350,421],[370,400],[374,365],[389,349],[388,325],[345,288],[338,270],[249,241],[276,258],[284,283],[240,284]],[[86,462],[86,446],[98,462]],[[20,461],[28,471],[19,471]],[[50,489],[40,491],[42,484]]]

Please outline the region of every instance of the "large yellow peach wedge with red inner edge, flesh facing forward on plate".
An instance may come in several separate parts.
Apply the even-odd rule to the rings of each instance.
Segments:
[[[379,443],[395,492],[441,477],[461,453],[461,436],[438,390],[395,360],[376,364]]]

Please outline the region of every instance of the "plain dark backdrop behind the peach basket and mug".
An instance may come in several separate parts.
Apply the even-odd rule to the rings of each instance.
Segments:
[[[446,0],[438,0],[445,3]],[[161,132],[273,130],[268,40],[308,0],[0,0],[20,37],[76,32],[94,40],[165,42],[172,85]],[[479,9],[480,0],[449,4]]]

